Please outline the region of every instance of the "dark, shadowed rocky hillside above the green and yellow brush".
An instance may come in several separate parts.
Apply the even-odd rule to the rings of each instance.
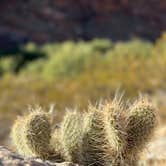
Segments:
[[[153,40],[166,29],[166,1],[2,0],[0,18],[0,46],[94,37]]]

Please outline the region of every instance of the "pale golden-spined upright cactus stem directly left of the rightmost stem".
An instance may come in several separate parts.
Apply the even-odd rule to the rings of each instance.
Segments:
[[[122,160],[122,152],[126,144],[126,133],[123,128],[123,103],[116,98],[111,103],[106,102],[103,105],[103,112],[106,138],[109,144],[106,154],[110,156],[112,165],[115,165],[117,159]]]

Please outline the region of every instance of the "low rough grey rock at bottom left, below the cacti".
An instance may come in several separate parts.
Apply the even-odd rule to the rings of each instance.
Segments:
[[[5,147],[0,146],[0,166],[78,166],[70,162],[51,163],[37,158],[24,159]]]

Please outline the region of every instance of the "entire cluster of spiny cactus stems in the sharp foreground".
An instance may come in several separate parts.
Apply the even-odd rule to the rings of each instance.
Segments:
[[[141,97],[131,106],[118,99],[67,111],[60,127],[41,108],[19,117],[11,138],[26,157],[84,166],[134,166],[156,126],[154,107]]]

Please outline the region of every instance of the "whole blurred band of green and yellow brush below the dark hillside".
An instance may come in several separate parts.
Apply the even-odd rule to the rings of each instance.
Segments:
[[[139,39],[29,43],[0,56],[0,141],[6,140],[13,119],[29,104],[55,104],[60,121],[66,107],[87,109],[89,101],[110,99],[118,88],[129,98],[139,92],[159,95],[160,115],[165,120],[161,96],[166,90],[164,34],[155,43]]]

